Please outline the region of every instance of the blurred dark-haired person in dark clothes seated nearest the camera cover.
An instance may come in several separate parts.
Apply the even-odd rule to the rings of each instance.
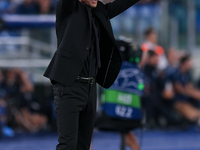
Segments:
[[[146,111],[147,126],[156,127],[160,125],[161,115],[176,121],[171,109],[162,101],[162,88],[160,87],[161,77],[157,73],[159,55],[149,50],[147,52],[146,65],[144,66],[145,88],[143,95],[143,105]],[[172,93],[173,96],[173,93]]]

